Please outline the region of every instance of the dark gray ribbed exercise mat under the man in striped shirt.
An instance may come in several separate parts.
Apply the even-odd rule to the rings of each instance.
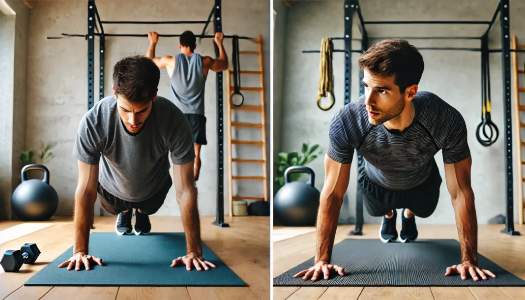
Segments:
[[[504,254],[502,254],[504,255]],[[344,268],[344,276],[332,273],[329,280],[303,281],[293,275],[313,266],[314,257],[274,278],[274,286],[525,286],[521,278],[478,254],[481,268],[497,277],[475,282],[460,275],[445,276],[447,267],[460,263],[456,240],[418,240],[383,243],[379,239],[345,239],[335,244],[332,263]]]

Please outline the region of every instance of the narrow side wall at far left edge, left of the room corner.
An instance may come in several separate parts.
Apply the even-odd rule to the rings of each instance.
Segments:
[[[0,13],[0,220],[11,216],[10,199],[20,183],[19,154],[25,149],[27,36],[29,10],[7,1],[15,15]],[[12,147],[9,147],[11,145]]]

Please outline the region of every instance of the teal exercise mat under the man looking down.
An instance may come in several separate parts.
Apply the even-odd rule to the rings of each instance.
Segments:
[[[72,247],[42,268],[25,286],[246,286],[204,243],[203,256],[216,265],[209,271],[187,271],[171,267],[172,261],[186,254],[184,233],[117,235],[93,232],[89,254],[102,258],[104,266],[91,270],[67,271],[58,266],[72,256]]]

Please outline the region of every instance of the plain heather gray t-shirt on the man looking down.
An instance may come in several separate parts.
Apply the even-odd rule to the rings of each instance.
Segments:
[[[98,164],[99,182],[118,198],[140,202],[158,192],[170,177],[170,161],[185,164],[195,158],[190,123],[173,102],[153,101],[144,128],[130,135],[120,119],[114,96],[100,100],[82,117],[74,156]]]

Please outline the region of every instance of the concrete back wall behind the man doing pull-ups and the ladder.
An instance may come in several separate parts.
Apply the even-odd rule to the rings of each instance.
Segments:
[[[205,20],[212,9],[213,1],[197,0],[187,3],[167,1],[100,1],[97,2],[98,11],[102,20]],[[269,124],[269,54],[270,54],[270,4],[268,1],[236,0],[224,1],[222,7],[223,32],[227,35],[257,37],[262,35],[264,47],[265,69],[265,105],[266,122]],[[77,161],[72,157],[74,139],[78,122],[87,109],[87,51],[86,41],[83,38],[46,39],[49,36],[60,36],[61,33],[86,33],[87,2],[85,1],[43,1],[31,11],[29,20],[30,41],[28,56],[28,87],[27,103],[27,136],[28,147],[36,147],[40,142],[57,142],[53,149],[55,159],[47,163],[51,172],[51,184],[58,192],[60,203],[58,215],[69,215],[72,212],[74,192],[78,178]],[[160,34],[178,34],[183,30],[193,30],[200,34],[203,25],[118,25],[106,24],[104,31],[114,34],[147,34],[156,31]],[[213,26],[208,28],[213,35]],[[225,39],[225,48],[231,61],[232,40]],[[96,49],[98,49],[98,38]],[[112,67],[124,56],[145,54],[149,41],[146,37],[108,37],[106,38],[106,80],[105,95],[111,95]],[[256,51],[257,46],[246,40],[239,41],[240,50]],[[178,53],[178,38],[160,38],[156,48],[156,55],[175,55]],[[202,55],[215,57],[213,42],[204,39],[197,44],[196,52]],[[98,53],[98,50],[96,50]],[[241,69],[258,69],[257,56],[241,56]],[[231,67],[230,63],[230,67]],[[99,57],[95,59],[95,69],[99,67]],[[159,95],[171,99],[169,77],[165,70],[161,72]],[[226,73],[224,73],[226,78]],[[211,72],[208,76],[205,89],[205,108],[207,117],[208,145],[202,148],[201,177],[197,182],[199,191],[199,209],[203,215],[214,215],[216,212],[217,194],[217,129],[216,129],[216,75]],[[226,80],[224,94],[226,93]],[[95,90],[98,90],[99,76],[95,78]],[[241,77],[243,86],[259,86],[258,76],[247,75]],[[97,93],[96,93],[97,94]],[[255,104],[260,101],[257,92],[246,91],[245,104]],[[225,103],[226,99],[225,99]],[[227,114],[225,108],[224,126],[227,129]],[[260,115],[257,113],[240,113],[237,120],[251,120],[257,122]],[[227,134],[225,135],[225,212],[228,206],[228,147]],[[234,131],[235,138],[261,140],[260,130],[245,129]],[[270,130],[267,130],[269,140]],[[261,157],[260,147],[244,147],[236,149],[243,158]],[[257,150],[257,151],[255,151]],[[252,151],[253,153],[248,153]],[[267,153],[270,148],[268,143]],[[261,165],[233,166],[234,174],[259,175],[262,174]],[[269,170],[269,165],[268,165]],[[173,174],[172,174],[173,176]],[[262,194],[260,181],[241,182],[242,187],[234,186],[234,193],[247,196]],[[98,210],[96,210],[98,213]],[[107,214],[107,213],[106,213]],[[175,190],[172,188],[167,195],[166,202],[157,213],[158,215],[179,215],[175,200]]]

